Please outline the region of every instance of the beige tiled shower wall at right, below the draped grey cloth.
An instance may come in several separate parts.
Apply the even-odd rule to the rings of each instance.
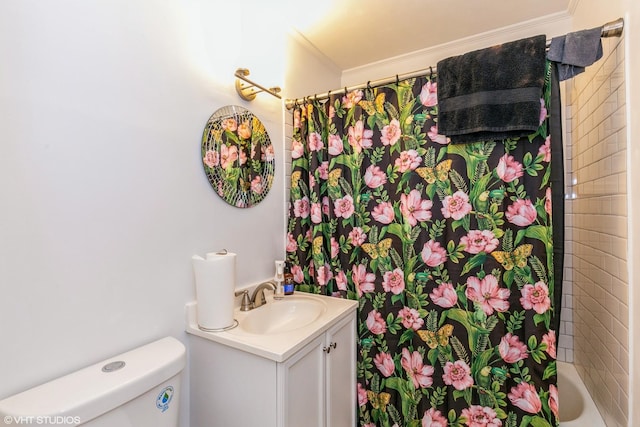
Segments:
[[[624,38],[566,82],[566,268],[558,358],[573,361],[607,426],[629,393]]]

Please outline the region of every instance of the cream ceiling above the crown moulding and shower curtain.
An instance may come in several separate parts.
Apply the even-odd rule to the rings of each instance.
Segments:
[[[322,0],[316,0],[322,2]],[[294,28],[340,70],[567,12],[570,0],[325,0]],[[304,11],[303,11],[304,12]]]

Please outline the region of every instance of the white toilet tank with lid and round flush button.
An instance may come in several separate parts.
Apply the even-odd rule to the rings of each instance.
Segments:
[[[185,362],[162,338],[0,400],[0,425],[177,427]]]

